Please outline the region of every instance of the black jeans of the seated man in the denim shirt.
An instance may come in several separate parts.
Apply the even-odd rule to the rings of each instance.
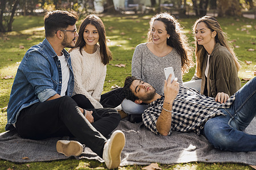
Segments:
[[[100,131],[108,129],[110,133],[117,127],[121,117],[114,109],[95,109],[94,113],[95,121],[90,124],[80,112],[76,101],[63,96],[22,109],[15,125],[22,138],[45,139],[65,135],[76,137],[102,157],[107,139]]]

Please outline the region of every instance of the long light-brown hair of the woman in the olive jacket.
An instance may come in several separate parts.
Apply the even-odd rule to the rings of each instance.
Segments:
[[[199,18],[196,20],[195,24],[193,25],[193,31],[195,33],[197,24],[204,22],[207,28],[210,29],[210,31],[216,31],[215,41],[219,42],[220,45],[225,46],[229,50],[229,52],[232,54],[234,62],[236,63],[237,71],[240,69],[241,65],[237,59],[236,54],[234,53],[234,48],[228,42],[228,36],[225,32],[222,31],[222,28],[220,24],[218,23],[218,20],[215,19],[213,16],[203,16],[202,18]],[[204,57],[207,53],[207,50],[205,50],[203,45],[199,45],[196,41],[196,50],[195,50],[195,57],[196,57],[196,76],[201,78],[202,76],[202,69],[203,69],[203,62]]]

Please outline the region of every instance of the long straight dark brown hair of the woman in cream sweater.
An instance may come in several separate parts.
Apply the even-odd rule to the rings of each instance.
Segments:
[[[93,15],[93,14],[88,15],[84,20],[82,20],[82,23],[79,27],[79,37],[77,38],[76,45],[73,49],[79,47],[80,53],[82,55],[82,48],[86,45],[86,42],[84,40],[84,30],[86,25],[88,24],[92,24],[94,25],[94,27],[97,28],[98,35],[99,35],[98,42],[100,44],[101,62],[104,65],[107,65],[109,61],[113,59],[112,53],[108,48],[108,46],[106,46],[105,25],[103,24],[102,20],[98,18],[98,16],[96,15]]]

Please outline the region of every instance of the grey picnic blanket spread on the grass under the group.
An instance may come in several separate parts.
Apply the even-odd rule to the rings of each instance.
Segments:
[[[146,165],[150,163],[175,164],[188,162],[243,163],[256,165],[256,152],[227,152],[214,149],[203,135],[172,132],[170,137],[155,135],[141,123],[132,124],[122,120],[117,129],[126,136],[126,145],[121,154],[121,166]],[[247,127],[246,133],[256,134],[256,118]],[[10,162],[44,162],[68,159],[56,151],[56,142],[63,138],[48,138],[40,141],[20,138],[16,131],[0,134],[0,159]],[[71,138],[72,139],[72,138]],[[94,159],[104,162],[90,148],[76,159]]]

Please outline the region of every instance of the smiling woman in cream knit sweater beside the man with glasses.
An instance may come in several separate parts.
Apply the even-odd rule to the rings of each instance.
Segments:
[[[80,25],[76,46],[69,52],[75,78],[74,95],[81,94],[78,97],[85,96],[88,99],[88,103],[81,103],[80,105],[84,105],[88,109],[103,108],[105,107],[104,101],[109,101],[106,98],[111,96],[116,98],[119,93],[122,94],[122,89],[118,89],[101,97],[106,76],[106,65],[112,60],[112,53],[106,46],[105,26],[98,16],[86,16]],[[120,100],[122,101],[122,99]],[[117,101],[115,105],[106,104],[106,107],[114,108],[121,101]]]

